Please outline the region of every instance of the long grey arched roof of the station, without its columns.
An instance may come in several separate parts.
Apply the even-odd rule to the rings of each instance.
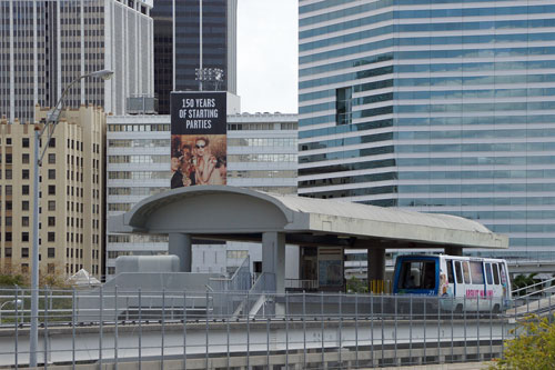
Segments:
[[[236,240],[279,231],[292,243],[310,243],[311,236],[319,243],[327,236],[327,242],[342,240],[345,244],[350,239],[347,247],[353,248],[376,241],[397,248],[508,246],[506,236],[460,217],[225,186],[179,188],[152,196],[112,218],[109,227],[113,232],[183,232]]]

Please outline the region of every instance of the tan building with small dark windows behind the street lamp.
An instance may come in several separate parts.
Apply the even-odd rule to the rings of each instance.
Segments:
[[[36,108],[38,120],[48,109]],[[0,268],[27,273],[32,248],[34,126],[0,121]],[[40,123],[39,123],[40,124]],[[100,277],[104,234],[102,108],[64,110],[40,169],[40,273]]]

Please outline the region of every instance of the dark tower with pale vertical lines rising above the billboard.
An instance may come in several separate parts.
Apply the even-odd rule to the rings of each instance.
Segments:
[[[154,91],[160,114],[170,113],[171,91],[199,90],[195,69],[201,66],[223,70],[219,90],[236,93],[236,8],[238,0],[154,1]]]

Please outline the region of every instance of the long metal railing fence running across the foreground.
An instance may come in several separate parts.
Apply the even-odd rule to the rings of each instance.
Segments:
[[[44,368],[83,369],[124,362],[330,369],[481,361],[501,357],[503,342],[518,334],[528,314],[552,311],[551,296],[501,301],[44,289],[38,360]],[[29,314],[29,290],[0,290],[0,367],[28,364]]]

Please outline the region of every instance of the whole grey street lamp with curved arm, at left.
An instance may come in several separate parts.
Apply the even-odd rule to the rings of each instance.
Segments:
[[[47,114],[47,122],[42,129],[37,124],[34,126],[34,172],[33,172],[33,246],[32,246],[32,270],[31,270],[31,329],[29,338],[29,366],[37,367],[37,347],[39,342],[39,168],[42,164],[50,139],[54,134],[54,129],[60,121],[60,114],[63,110],[63,102],[68,91],[79,81],[89,77],[101,78],[109,80],[112,78],[113,72],[110,70],[100,70],[92,73],[80,76],[71,81],[71,83],[63,90],[60,99]],[[44,148],[40,152],[40,139],[47,132],[47,140]],[[40,154],[39,154],[40,152]]]

